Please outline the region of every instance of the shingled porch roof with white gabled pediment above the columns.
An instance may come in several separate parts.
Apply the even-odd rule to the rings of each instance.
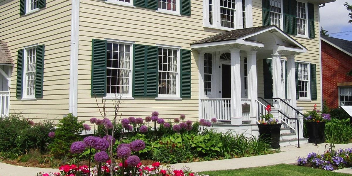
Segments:
[[[191,49],[240,48],[241,50],[274,50],[280,54],[307,52],[307,48],[276,26],[259,26],[226,31],[190,44]]]

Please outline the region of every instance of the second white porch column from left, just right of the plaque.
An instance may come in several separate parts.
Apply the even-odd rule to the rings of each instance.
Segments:
[[[248,69],[248,99],[251,99],[250,104],[250,114],[249,117],[252,120],[251,124],[256,123],[257,119],[257,109],[256,109],[256,99],[258,98],[257,90],[257,51],[247,51],[247,69]]]

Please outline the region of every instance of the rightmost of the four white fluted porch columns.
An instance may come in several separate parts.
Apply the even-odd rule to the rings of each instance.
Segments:
[[[295,56],[286,56],[287,58],[287,98],[291,99],[291,106],[297,107],[296,100],[296,73],[295,73]]]

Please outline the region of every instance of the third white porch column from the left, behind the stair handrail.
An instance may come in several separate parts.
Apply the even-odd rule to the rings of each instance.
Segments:
[[[273,54],[272,56],[272,97],[273,98],[283,98],[282,97],[282,85],[281,85],[281,55]],[[274,107],[279,107],[278,101],[274,101]]]

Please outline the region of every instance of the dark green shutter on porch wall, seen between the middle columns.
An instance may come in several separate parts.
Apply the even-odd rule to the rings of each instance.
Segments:
[[[271,59],[263,59],[264,98],[272,99],[272,72]]]

